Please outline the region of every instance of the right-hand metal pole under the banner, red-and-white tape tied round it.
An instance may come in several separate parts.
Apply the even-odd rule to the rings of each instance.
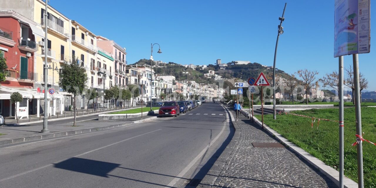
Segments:
[[[355,100],[355,118],[356,118],[356,134],[362,136],[362,115],[360,109],[360,86],[359,86],[359,59],[358,54],[353,54],[354,67],[354,100]],[[363,148],[362,141],[357,146],[358,153],[358,187],[363,188]]]

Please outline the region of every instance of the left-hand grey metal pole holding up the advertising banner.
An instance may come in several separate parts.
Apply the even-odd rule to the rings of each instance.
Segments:
[[[338,70],[338,97],[340,99],[340,104],[339,104],[339,138],[340,138],[340,188],[343,188],[343,56],[338,57],[339,61],[339,70]]]

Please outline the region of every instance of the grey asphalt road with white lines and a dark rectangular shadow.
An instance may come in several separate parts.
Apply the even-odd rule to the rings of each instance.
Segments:
[[[218,103],[204,103],[178,117],[3,147],[0,187],[194,185],[233,135],[226,116]]]

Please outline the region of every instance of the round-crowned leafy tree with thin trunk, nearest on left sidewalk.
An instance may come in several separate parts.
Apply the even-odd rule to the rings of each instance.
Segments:
[[[59,85],[68,93],[74,96],[74,120],[73,126],[76,126],[76,96],[82,94],[88,82],[88,76],[85,68],[77,65],[77,59],[73,56],[72,62],[65,62],[60,66]]]

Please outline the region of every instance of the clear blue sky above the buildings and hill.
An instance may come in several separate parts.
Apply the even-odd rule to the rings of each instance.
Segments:
[[[150,43],[163,53],[155,60],[179,64],[250,61],[273,65],[278,17],[287,3],[284,34],[279,38],[277,68],[287,73],[307,68],[325,73],[338,70],[334,58],[334,1],[222,0],[50,0],[50,5],[96,35],[127,48],[128,64],[150,57]],[[371,12],[373,11],[371,6]],[[375,20],[371,14],[371,20]],[[374,34],[371,24],[371,36]],[[359,55],[367,90],[376,90],[375,59]],[[155,46],[155,52],[158,47]],[[352,65],[352,56],[344,57]]]

